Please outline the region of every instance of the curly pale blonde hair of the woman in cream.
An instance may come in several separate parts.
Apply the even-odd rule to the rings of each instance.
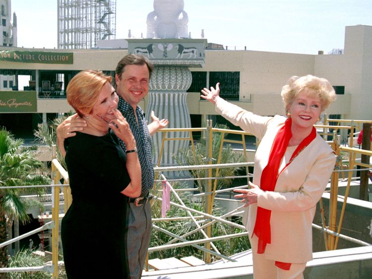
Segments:
[[[322,112],[336,99],[332,85],[325,78],[313,75],[293,76],[289,79],[288,84],[283,86],[280,94],[285,105],[286,113],[288,112],[288,107],[303,91],[306,91],[309,96],[318,96],[320,98]]]

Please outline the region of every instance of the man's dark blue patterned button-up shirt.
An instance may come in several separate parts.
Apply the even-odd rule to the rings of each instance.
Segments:
[[[152,166],[152,140],[150,132],[147,127],[145,117],[143,115],[142,109],[137,106],[135,113],[137,114],[138,123],[134,116],[133,108],[126,102],[122,97],[119,96],[118,110],[122,112],[123,116],[129,124],[132,134],[134,136],[138,159],[141,165],[142,171],[142,192],[141,196],[147,194],[149,189],[152,188],[154,184],[154,168]],[[120,145],[126,151],[125,144],[122,140]]]

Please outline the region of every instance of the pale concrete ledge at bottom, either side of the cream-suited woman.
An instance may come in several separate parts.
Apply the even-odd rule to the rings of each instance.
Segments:
[[[229,278],[252,279],[253,266],[251,251],[234,255],[237,262],[215,262],[210,265],[178,268],[163,271],[143,272],[146,279],[189,279]],[[313,253],[308,262],[305,278],[327,279],[370,279],[372,274],[372,246],[340,249]]]

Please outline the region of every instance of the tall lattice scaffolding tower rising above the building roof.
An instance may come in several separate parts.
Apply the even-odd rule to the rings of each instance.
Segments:
[[[58,48],[91,49],[116,38],[116,0],[58,0]]]

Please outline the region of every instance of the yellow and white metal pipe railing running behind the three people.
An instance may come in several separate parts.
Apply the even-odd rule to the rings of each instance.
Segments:
[[[337,120],[337,119],[330,119],[330,120],[333,121],[333,120]],[[324,127],[324,129],[328,129],[330,127],[337,127],[337,129],[351,129],[352,130],[352,127],[353,127],[353,126],[327,126],[327,125],[325,125],[325,126],[326,127]],[[321,126],[321,128],[322,128],[322,126]],[[167,140],[185,140],[184,138],[171,139],[171,138],[166,137],[168,132],[172,132],[172,131],[175,131],[175,130],[176,129],[162,129],[160,131],[161,133],[163,133],[163,142],[162,142],[162,146],[161,146],[161,149],[160,149],[159,158],[161,158],[161,153],[163,151],[165,141],[167,141]],[[233,211],[225,213],[224,215],[219,216],[219,217],[212,215],[212,209],[213,209],[214,200],[216,199],[215,198],[216,194],[221,193],[221,192],[231,192],[236,188],[244,188],[244,187],[248,187],[248,186],[243,185],[243,186],[239,186],[239,187],[231,187],[231,188],[227,188],[227,189],[217,190],[217,186],[216,186],[217,185],[217,180],[218,179],[223,179],[223,178],[226,178],[226,177],[218,177],[218,171],[216,171],[216,175],[213,176],[213,177],[212,177],[211,174],[212,174],[212,169],[214,169],[214,168],[215,169],[220,169],[220,168],[224,168],[224,167],[249,167],[249,166],[253,166],[252,162],[235,163],[235,164],[220,164],[223,144],[226,143],[226,142],[241,143],[243,145],[243,149],[244,149],[244,156],[245,156],[245,158],[247,158],[247,153],[245,152],[246,151],[245,135],[247,135],[247,133],[245,133],[243,131],[216,129],[216,128],[212,127],[211,122],[207,123],[206,128],[177,129],[177,130],[183,130],[183,131],[189,131],[190,132],[190,137],[187,138],[187,139],[189,139],[190,142],[191,142],[191,148],[194,152],[194,157],[195,157],[195,147],[193,146],[192,132],[193,131],[204,131],[206,133],[206,138],[207,138],[207,141],[206,141],[207,148],[206,148],[206,150],[208,151],[208,153],[206,154],[207,164],[206,165],[199,165],[199,166],[161,167],[160,166],[160,161],[159,161],[159,167],[155,167],[154,170],[157,173],[157,175],[160,176],[160,179],[158,181],[165,181],[166,176],[163,173],[165,173],[166,171],[205,169],[206,170],[205,177],[190,178],[192,180],[195,180],[195,179],[205,179],[205,180],[207,180],[207,186],[205,188],[205,191],[192,195],[192,197],[195,197],[195,198],[205,197],[205,199],[206,199],[205,212],[186,207],[185,203],[182,201],[182,199],[180,198],[180,195],[178,194],[180,191],[197,191],[198,188],[174,189],[173,186],[171,185],[172,195],[179,202],[179,203],[171,202],[171,205],[174,206],[174,207],[178,207],[180,209],[185,210],[187,212],[188,216],[187,217],[182,217],[182,219],[192,221],[192,223],[195,226],[195,229],[190,230],[189,232],[187,232],[184,235],[175,235],[174,233],[170,232],[169,230],[161,228],[156,223],[163,222],[163,221],[176,221],[176,220],[180,220],[180,218],[173,217],[173,218],[164,218],[164,219],[163,218],[154,219],[153,223],[152,223],[152,227],[154,229],[157,229],[159,231],[162,231],[162,232],[172,236],[173,239],[168,241],[164,245],[150,247],[148,252],[151,253],[151,252],[154,252],[154,251],[159,251],[159,250],[164,250],[164,249],[172,249],[172,248],[175,248],[175,247],[182,247],[182,246],[186,246],[186,245],[187,246],[191,245],[191,246],[196,247],[197,249],[203,251],[205,253],[205,255],[207,255],[205,257],[206,262],[208,262],[208,260],[210,260],[210,255],[219,257],[219,258],[223,259],[224,261],[234,261],[229,256],[221,254],[218,251],[218,249],[215,247],[213,242],[217,241],[217,240],[220,240],[220,239],[226,239],[226,238],[231,238],[231,237],[247,236],[247,232],[244,231],[244,232],[239,232],[239,233],[234,233],[234,234],[229,234],[229,235],[223,235],[223,236],[212,236],[210,227],[213,223],[220,222],[220,223],[224,223],[224,224],[227,224],[229,226],[233,226],[233,227],[244,230],[245,228],[244,228],[243,225],[240,225],[240,224],[237,224],[237,223],[226,220],[226,218],[229,218],[233,215],[240,214],[241,210],[242,210],[242,206],[240,206],[240,207],[238,206]],[[211,146],[212,146],[211,141],[212,141],[212,138],[213,138],[212,137],[213,132],[222,133],[222,138],[223,138],[223,140],[221,141],[220,148],[219,148],[219,156],[218,156],[217,160],[215,161],[216,164],[212,164],[212,160],[211,160]],[[228,140],[228,139],[225,140],[224,135],[226,133],[240,134],[240,135],[242,135],[242,140],[241,141],[231,141],[231,140]],[[335,135],[335,133],[336,132],[334,131],[333,134]],[[336,166],[335,166],[335,171],[332,173],[332,176],[331,176],[331,191],[330,191],[331,196],[330,196],[330,209],[329,209],[329,218],[328,218],[329,223],[326,224],[325,218],[324,218],[324,210],[321,210],[321,212],[323,213],[322,226],[319,227],[319,226],[313,224],[313,227],[323,230],[326,250],[337,249],[337,244],[338,244],[339,238],[354,241],[354,242],[356,242],[360,245],[371,245],[370,243],[366,243],[366,242],[360,241],[358,239],[353,239],[352,237],[343,235],[343,234],[340,233],[340,231],[341,231],[341,227],[342,227],[342,223],[343,223],[343,218],[344,218],[344,215],[345,215],[345,207],[346,207],[348,193],[349,193],[349,189],[350,189],[350,185],[351,185],[351,181],[352,181],[352,175],[353,175],[353,171],[355,171],[354,167],[359,165],[359,166],[365,167],[366,169],[372,169],[371,165],[357,163],[356,162],[356,154],[364,154],[364,155],[372,156],[372,152],[367,151],[367,150],[361,150],[361,149],[341,146],[337,142],[337,137],[334,137],[334,140],[332,142],[329,142],[329,144],[333,148],[333,150],[335,151],[336,155],[339,156],[339,157],[340,157],[341,151],[347,152],[348,154],[350,154],[349,167],[348,167],[348,169],[342,169],[342,160],[341,159],[337,160],[337,163],[336,163]],[[247,159],[246,159],[246,161],[247,161]],[[337,210],[338,210],[337,209],[337,198],[339,198],[337,193],[338,193],[338,182],[340,180],[338,176],[339,176],[339,173],[341,173],[341,172],[348,172],[348,183],[347,183],[347,186],[346,186],[346,192],[345,192],[345,197],[344,197],[344,203],[343,203],[343,206],[342,206],[342,209],[341,209],[341,215],[339,217],[339,220],[337,220]],[[240,177],[246,177],[247,179],[249,179],[249,177],[251,177],[251,176],[252,175],[248,173],[248,169],[247,169],[247,175],[240,176]],[[59,239],[60,239],[59,224],[60,224],[60,219],[63,216],[63,214],[60,214],[60,208],[59,208],[59,206],[60,206],[60,195],[61,195],[60,192],[62,191],[62,193],[63,193],[63,210],[62,210],[62,212],[67,211],[68,207],[71,205],[72,197],[71,197],[71,193],[70,193],[70,189],[69,189],[69,185],[68,185],[68,173],[66,172],[65,169],[63,169],[61,164],[56,159],[53,159],[53,161],[52,161],[52,178],[53,178],[53,181],[54,181],[54,184],[55,184],[54,186],[52,186],[52,220],[53,220],[53,222],[48,223],[48,224],[45,225],[45,226],[48,225],[48,227],[53,226],[53,228],[52,228],[52,266],[51,267],[48,266],[47,268],[45,268],[43,270],[49,270],[50,271],[51,269],[53,269],[52,278],[57,279],[58,274],[59,274],[59,269],[61,267],[61,265],[58,261]],[[61,179],[63,179],[63,184],[61,184]],[[172,179],[172,181],[176,181],[176,180],[177,179]],[[183,179],[183,180],[185,180],[185,179]],[[212,187],[212,182],[213,181],[214,181],[214,185]],[[162,191],[162,189],[156,189],[156,187],[154,188],[154,193],[161,193],[161,191]],[[154,197],[154,202],[157,202],[157,201],[162,201],[162,198],[160,197],[159,194],[155,194],[155,197]],[[322,200],[320,201],[320,206],[323,209]],[[45,229],[45,226],[39,228],[38,230]],[[186,240],[186,237],[188,235],[190,235],[192,233],[196,233],[196,232],[202,233],[203,239],[193,240],[193,241],[187,241]],[[24,237],[27,237],[27,235],[24,236]],[[12,241],[14,242],[14,241],[17,241],[17,240],[13,239]],[[181,241],[181,242],[175,243],[176,241]],[[199,244],[202,244],[202,243],[205,243],[205,245],[200,246]],[[9,243],[4,242],[0,245],[6,246],[8,244]],[[7,271],[0,270],[0,272],[25,271],[25,269],[26,268],[21,268],[19,270],[7,270]],[[28,270],[29,271],[32,271],[32,270],[36,271],[36,269],[37,268],[30,268]]]

